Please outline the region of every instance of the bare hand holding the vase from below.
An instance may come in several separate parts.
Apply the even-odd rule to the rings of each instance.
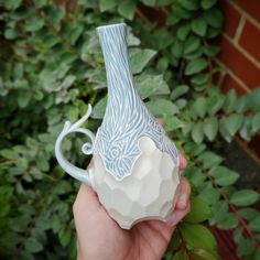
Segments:
[[[181,170],[186,160],[181,159]],[[160,260],[176,225],[189,212],[188,182],[181,178],[181,195],[167,223],[147,220],[121,229],[99,203],[96,193],[82,184],[74,203],[78,260]]]

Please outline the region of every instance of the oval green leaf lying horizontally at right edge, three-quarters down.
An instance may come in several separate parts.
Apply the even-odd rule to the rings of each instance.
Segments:
[[[251,189],[240,189],[230,197],[230,202],[236,206],[248,206],[254,204],[258,199],[259,194]]]

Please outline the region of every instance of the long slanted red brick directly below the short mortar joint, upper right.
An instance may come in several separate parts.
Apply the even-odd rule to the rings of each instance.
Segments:
[[[218,58],[236,74],[248,88],[256,88],[260,84],[260,68],[237,50],[225,36],[220,40]]]

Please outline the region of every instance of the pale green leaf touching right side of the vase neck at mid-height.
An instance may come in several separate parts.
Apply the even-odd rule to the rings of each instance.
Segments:
[[[136,50],[130,54],[130,63],[132,68],[132,74],[141,73],[145,65],[154,57],[156,54],[153,50]]]

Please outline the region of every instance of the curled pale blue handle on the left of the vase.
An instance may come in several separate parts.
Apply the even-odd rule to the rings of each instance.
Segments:
[[[62,166],[62,169],[65,172],[67,172],[71,176],[75,177],[76,180],[78,180],[89,186],[91,186],[91,182],[89,180],[88,171],[73,165],[71,162],[68,162],[65,159],[63,151],[62,151],[62,142],[63,142],[64,138],[69,133],[73,133],[73,132],[84,133],[87,137],[89,137],[89,139],[91,140],[91,143],[85,143],[82,148],[82,151],[85,154],[93,153],[93,144],[95,142],[95,134],[91,131],[89,131],[88,129],[80,128],[80,126],[89,118],[91,110],[93,110],[91,105],[88,105],[87,113],[83,118],[80,118],[75,123],[66,121],[64,124],[64,128],[63,128],[62,132],[58,134],[56,143],[55,143],[55,155],[56,155],[56,159],[57,159],[59,165]]]

